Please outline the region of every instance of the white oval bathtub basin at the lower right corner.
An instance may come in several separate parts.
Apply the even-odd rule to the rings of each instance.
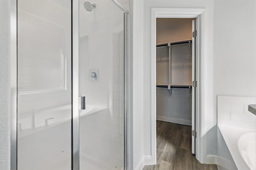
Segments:
[[[238,150],[248,167],[256,170],[256,132],[240,136]]]

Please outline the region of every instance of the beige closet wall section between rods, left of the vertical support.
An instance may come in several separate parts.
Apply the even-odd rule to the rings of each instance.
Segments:
[[[169,47],[156,47],[156,84],[169,84]]]

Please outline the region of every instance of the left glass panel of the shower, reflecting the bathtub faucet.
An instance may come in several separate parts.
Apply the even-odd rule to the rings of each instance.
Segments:
[[[18,170],[71,169],[71,0],[18,0]]]

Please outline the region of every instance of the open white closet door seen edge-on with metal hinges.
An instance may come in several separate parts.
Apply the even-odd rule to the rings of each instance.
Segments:
[[[196,154],[196,25],[192,20],[192,154]]]

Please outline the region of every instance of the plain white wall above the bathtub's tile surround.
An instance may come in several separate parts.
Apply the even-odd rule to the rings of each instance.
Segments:
[[[255,9],[255,0],[214,1],[214,106],[216,95],[256,96]]]

